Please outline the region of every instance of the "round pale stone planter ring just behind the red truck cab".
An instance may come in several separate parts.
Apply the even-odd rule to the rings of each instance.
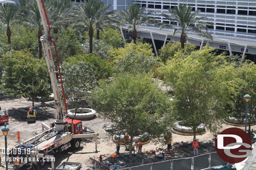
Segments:
[[[66,117],[69,118],[75,118],[74,113],[75,109],[68,110],[68,114],[66,114]],[[96,118],[96,111],[94,109],[89,108],[79,108],[77,109],[76,113],[76,119],[94,119]]]

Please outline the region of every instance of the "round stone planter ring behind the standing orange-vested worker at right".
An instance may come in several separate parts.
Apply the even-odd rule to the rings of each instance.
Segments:
[[[191,127],[182,126],[179,123],[183,121],[178,121],[174,123],[174,127],[172,128],[172,132],[176,134],[182,134],[182,135],[194,135],[193,129]],[[196,135],[204,134],[206,133],[206,130],[204,129],[204,124],[200,124],[198,127],[196,127]]]

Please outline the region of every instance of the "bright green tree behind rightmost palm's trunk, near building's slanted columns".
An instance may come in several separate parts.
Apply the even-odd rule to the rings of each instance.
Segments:
[[[161,58],[162,62],[166,63],[166,61],[175,57],[175,53],[177,53],[180,50],[182,50],[180,43],[178,43],[178,42],[167,43],[164,48],[162,47],[159,50],[159,54],[161,54],[160,58]],[[183,56],[187,56],[192,51],[195,51],[195,50],[196,50],[195,45],[192,45],[191,43],[185,43],[184,51],[182,50]],[[180,57],[178,55],[176,55],[176,56]]]

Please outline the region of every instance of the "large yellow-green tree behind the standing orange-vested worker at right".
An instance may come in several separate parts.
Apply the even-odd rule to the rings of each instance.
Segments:
[[[226,98],[218,98],[216,94],[223,95],[220,92],[224,91],[226,76],[221,79],[223,84],[214,79],[214,69],[224,61],[224,56],[217,56],[213,51],[214,48],[206,47],[185,58],[173,58],[160,68],[165,83],[174,92],[175,112],[185,126],[193,129],[194,138],[201,123],[215,131],[227,117],[223,109]]]

